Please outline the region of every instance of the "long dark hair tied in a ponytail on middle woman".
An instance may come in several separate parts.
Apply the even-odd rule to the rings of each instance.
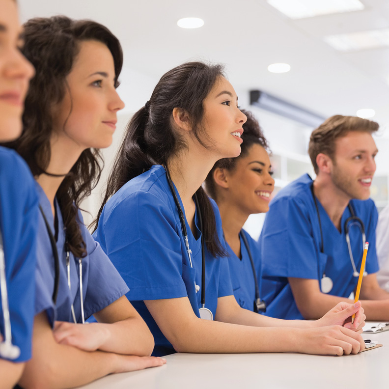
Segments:
[[[203,101],[222,76],[222,65],[202,62],[184,63],[162,76],[150,100],[127,124],[123,142],[108,179],[103,203],[95,220],[95,228],[105,203],[127,181],[152,165],[160,164],[166,167],[169,158],[186,147],[172,126],[174,108],[181,108],[188,113],[193,135],[200,144],[208,147],[202,140],[207,136],[202,126]],[[196,191],[196,195],[207,249],[213,256],[224,255],[216,233],[215,215],[209,198],[202,187]]]

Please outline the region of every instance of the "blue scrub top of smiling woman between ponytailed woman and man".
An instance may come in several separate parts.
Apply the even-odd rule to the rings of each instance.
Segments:
[[[246,239],[249,243],[249,250],[251,251],[252,260],[254,262],[255,274],[258,279],[258,288],[260,290],[260,273],[261,273],[261,255],[259,251],[258,242],[255,242],[251,238],[250,234],[242,229],[242,233],[245,234]],[[245,309],[250,311],[254,310],[255,301],[255,280],[252,273],[252,267],[250,262],[249,251],[242,238],[241,243],[241,256],[242,259],[238,258],[232,251],[228,243],[226,247],[228,251],[228,265],[231,276],[232,289],[234,296],[238,304]]]

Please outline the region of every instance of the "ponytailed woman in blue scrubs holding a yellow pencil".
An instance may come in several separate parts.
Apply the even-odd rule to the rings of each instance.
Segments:
[[[237,100],[220,65],[189,62],[167,72],[128,123],[94,237],[129,285],[154,355],[357,353],[360,334],[332,325],[357,311],[360,331],[360,305],[287,322],[236,303],[220,214],[201,184],[217,160],[241,152],[246,116]]]

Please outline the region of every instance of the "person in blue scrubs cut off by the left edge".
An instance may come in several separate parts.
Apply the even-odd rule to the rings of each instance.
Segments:
[[[0,9],[0,142],[6,142],[22,131],[34,70],[19,51],[16,2],[0,0]],[[38,196],[28,166],[0,147],[0,387],[5,389],[18,382],[31,358],[37,218]]]

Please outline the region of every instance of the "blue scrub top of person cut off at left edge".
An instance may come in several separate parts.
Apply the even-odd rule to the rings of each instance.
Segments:
[[[0,231],[12,343],[21,350],[19,358],[12,361],[23,362],[31,358],[38,195],[27,164],[4,147],[0,147],[0,183]],[[0,333],[4,336],[1,299]]]

